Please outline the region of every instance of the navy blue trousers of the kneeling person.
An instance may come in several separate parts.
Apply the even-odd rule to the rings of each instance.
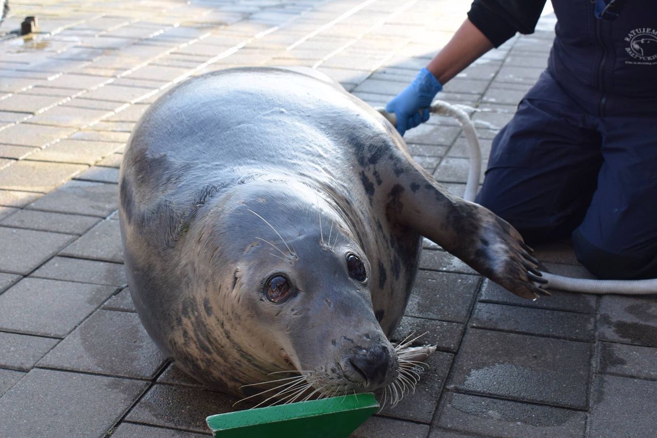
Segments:
[[[657,278],[657,108],[587,113],[546,71],[493,140],[477,202],[599,278]]]

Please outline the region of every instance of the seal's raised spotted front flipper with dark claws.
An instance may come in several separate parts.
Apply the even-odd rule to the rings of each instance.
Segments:
[[[388,194],[388,214],[438,243],[477,272],[526,299],[550,295],[520,233],[487,208],[451,195],[417,164]]]

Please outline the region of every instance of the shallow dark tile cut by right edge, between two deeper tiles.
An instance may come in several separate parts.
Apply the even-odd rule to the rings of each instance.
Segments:
[[[601,342],[597,371],[657,380],[657,349]]]

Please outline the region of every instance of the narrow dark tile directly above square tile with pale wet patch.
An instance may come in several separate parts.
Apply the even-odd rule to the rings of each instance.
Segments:
[[[595,338],[595,315],[574,312],[478,303],[470,322],[471,326],[476,328],[514,331],[574,341],[593,341]]]

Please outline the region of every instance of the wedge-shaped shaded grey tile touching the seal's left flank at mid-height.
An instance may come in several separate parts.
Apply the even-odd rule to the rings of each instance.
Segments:
[[[102,220],[60,251],[60,255],[122,263],[123,245],[119,221]]]

